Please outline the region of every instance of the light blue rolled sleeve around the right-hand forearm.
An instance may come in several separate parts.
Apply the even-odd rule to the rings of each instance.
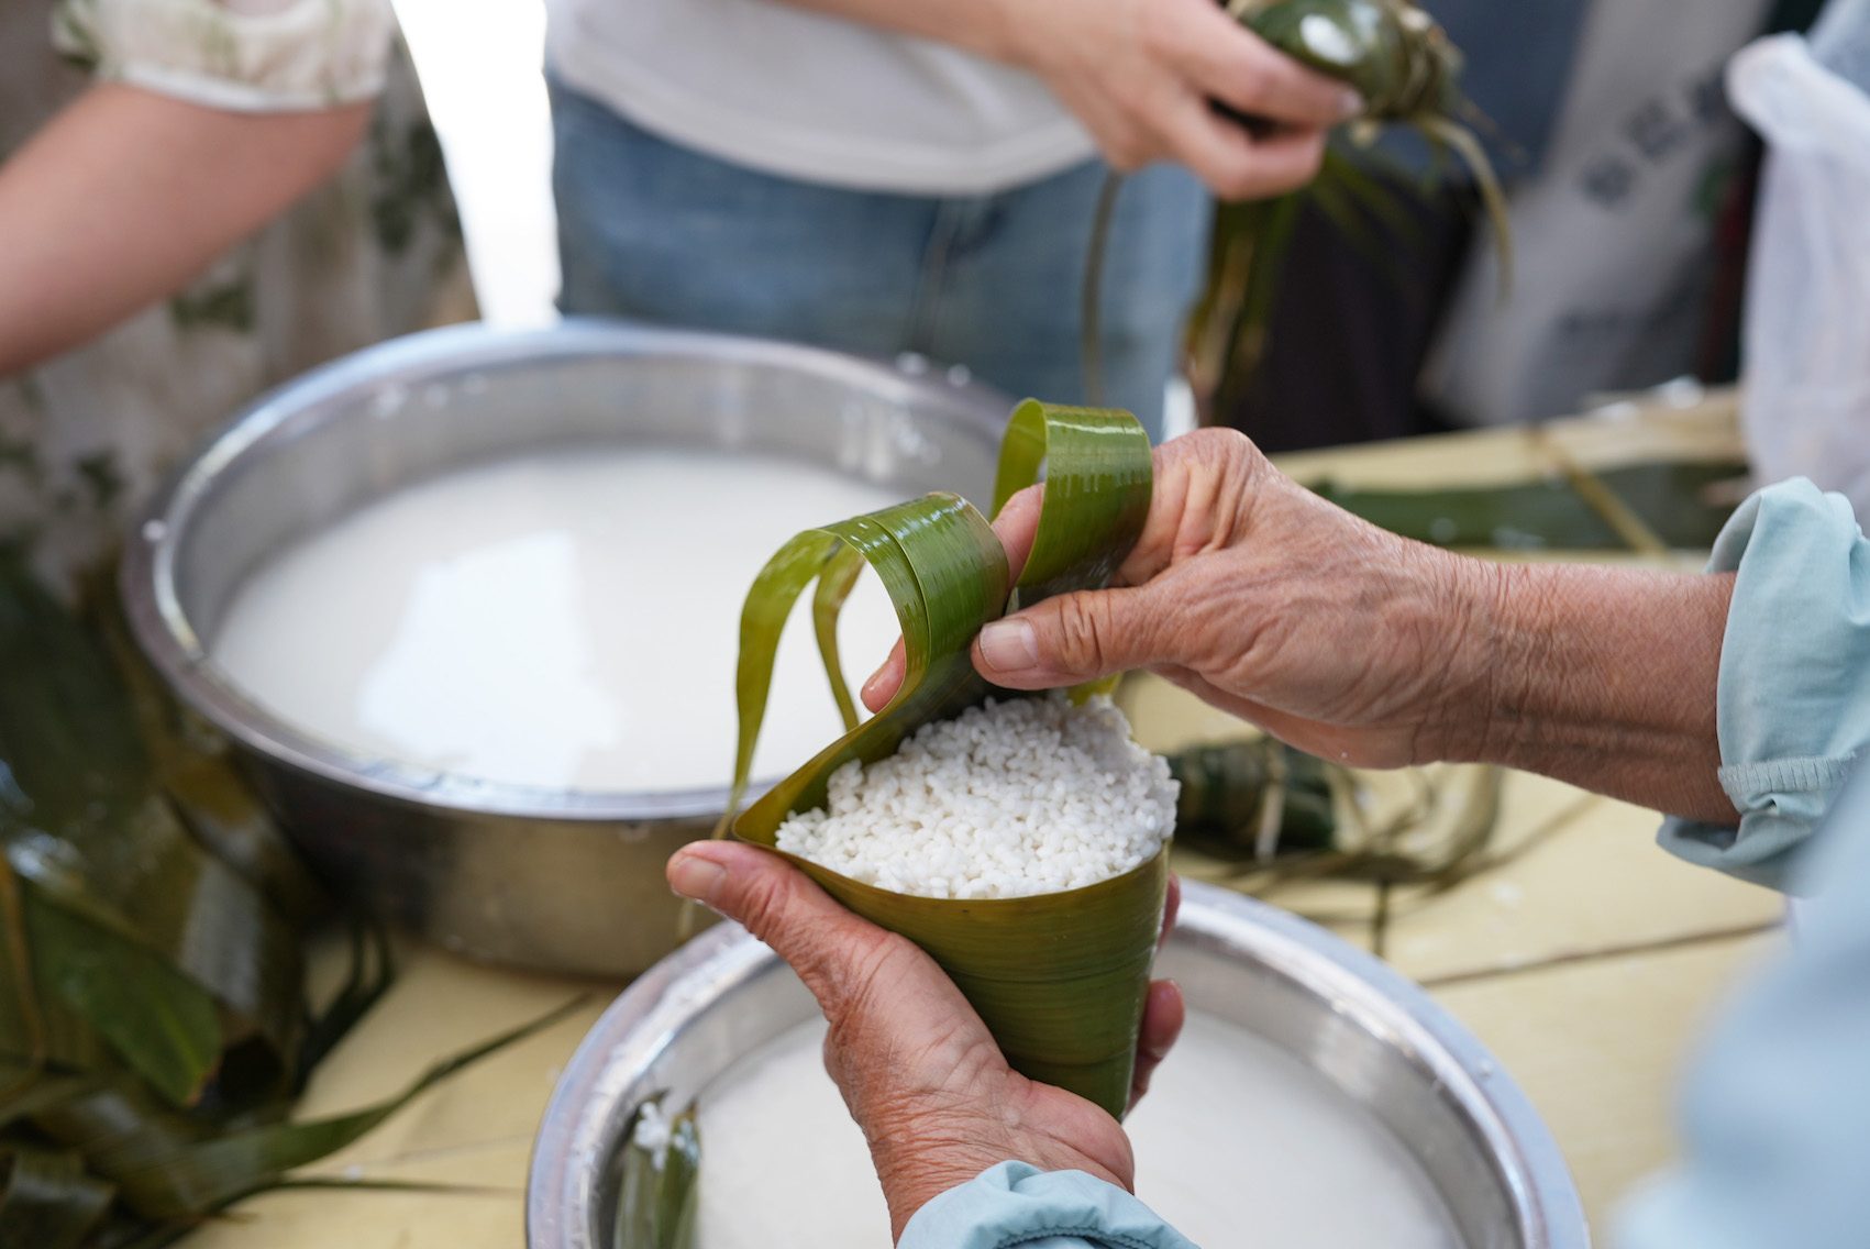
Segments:
[[[1720,645],[1720,785],[1739,828],[1670,819],[1664,849],[1758,884],[1786,868],[1870,742],[1870,542],[1840,494],[1795,479],[1715,540],[1733,572]]]

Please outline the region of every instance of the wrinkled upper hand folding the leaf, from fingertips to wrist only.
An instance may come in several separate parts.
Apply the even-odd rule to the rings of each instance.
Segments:
[[[995,531],[1017,570],[1043,486]],[[974,668],[1043,690],[1146,668],[1328,759],[1462,757],[1489,707],[1492,565],[1410,542],[1298,486],[1232,430],[1156,449],[1156,492],[1115,587],[987,624]],[[864,686],[881,709],[901,649]]]

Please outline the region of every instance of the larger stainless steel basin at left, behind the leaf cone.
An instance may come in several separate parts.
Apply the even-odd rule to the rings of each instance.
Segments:
[[[913,359],[611,322],[438,329],[236,415],[142,514],[123,598],[157,671],[236,742],[337,888],[473,957],[630,976],[673,946],[662,864],[711,830],[724,789],[527,789],[318,740],[209,660],[230,595],[280,546],[398,486],[542,447],[789,456],[903,497],[954,490],[985,503],[1008,408]]]

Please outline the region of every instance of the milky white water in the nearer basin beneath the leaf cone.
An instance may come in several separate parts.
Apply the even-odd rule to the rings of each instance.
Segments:
[[[800,1025],[701,1094],[698,1249],[888,1249],[864,1133]],[[1429,1178],[1343,1092],[1238,1025],[1187,1028],[1126,1120],[1137,1197],[1201,1249],[1459,1249]]]

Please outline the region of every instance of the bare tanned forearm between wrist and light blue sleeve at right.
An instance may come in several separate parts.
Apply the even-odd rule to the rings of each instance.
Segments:
[[[1715,688],[1732,574],[1487,567],[1481,707],[1449,757],[1503,763],[1733,825],[1719,782]]]

